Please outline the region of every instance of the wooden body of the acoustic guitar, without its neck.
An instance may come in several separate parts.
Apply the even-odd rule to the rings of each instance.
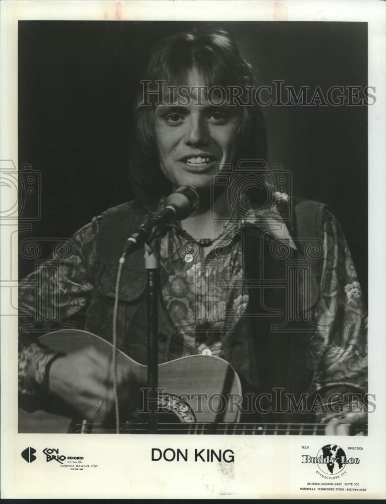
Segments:
[[[86,331],[55,331],[41,336],[39,341],[54,352],[69,353],[92,346],[113,356],[111,343]],[[140,388],[147,387],[146,365],[139,364],[121,350],[117,350],[117,363],[127,369]],[[224,404],[222,398],[228,401],[241,398],[240,379],[233,367],[219,357],[192,355],[159,364],[158,388],[163,409],[173,413],[177,422],[233,423],[239,420],[240,411]],[[19,432],[68,432],[71,421],[62,415],[44,411],[27,413],[19,409]]]

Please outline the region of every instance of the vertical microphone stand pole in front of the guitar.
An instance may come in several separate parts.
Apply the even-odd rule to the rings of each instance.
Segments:
[[[150,407],[149,433],[157,433],[158,409],[158,289],[159,289],[159,238],[154,238],[152,248],[145,243],[145,269],[147,273],[147,386]]]

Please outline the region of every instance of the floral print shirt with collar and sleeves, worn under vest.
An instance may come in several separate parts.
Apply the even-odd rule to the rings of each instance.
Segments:
[[[162,206],[163,202],[160,202]],[[168,274],[162,300],[179,328],[183,355],[204,353],[221,355],[222,338],[234,330],[244,313],[248,294],[238,287],[243,278],[241,242],[235,240],[244,223],[254,223],[274,237],[296,248],[280,213],[267,218],[250,206],[243,219],[228,222],[213,248],[204,248],[178,224],[172,226],[161,241],[161,266]],[[55,328],[47,313],[58,310],[61,321],[82,316],[93,291],[93,266],[96,236],[102,217],[96,217],[72,237],[73,251],[66,259],[53,253],[50,260],[59,262],[59,274],[52,278],[44,265],[38,266],[20,282],[19,310],[39,319],[39,328]],[[280,225],[278,225],[280,224]],[[367,318],[361,288],[342,229],[328,210],[323,215],[324,259],[319,284],[319,299],[313,320],[324,331],[316,331],[309,348],[310,368],[316,369],[312,390],[345,388],[367,392]],[[232,244],[232,246],[231,246]],[[185,247],[185,248],[184,248]],[[181,253],[183,251],[183,253]],[[215,265],[215,268],[213,267]],[[215,273],[213,273],[215,272]],[[215,289],[213,275],[226,280]],[[40,280],[36,282],[36,279]],[[40,314],[38,311],[40,310]],[[42,312],[44,310],[44,312]],[[47,363],[54,356],[39,346],[34,333],[24,330],[19,336],[19,392],[36,395],[42,390]]]

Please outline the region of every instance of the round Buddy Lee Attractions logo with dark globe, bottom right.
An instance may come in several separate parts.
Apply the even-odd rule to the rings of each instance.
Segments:
[[[347,458],[345,451],[338,445],[323,446],[316,457],[302,455],[302,464],[316,464],[321,471],[316,470],[316,474],[326,479],[341,478],[347,473],[345,470],[347,465],[359,463],[358,457]]]

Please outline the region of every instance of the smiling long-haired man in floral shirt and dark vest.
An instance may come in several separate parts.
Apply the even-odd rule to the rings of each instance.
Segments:
[[[112,341],[114,289],[126,238],[162,208],[165,196],[193,186],[199,207],[174,222],[160,243],[159,362],[194,354],[230,361],[245,393],[269,397],[261,411],[253,409],[253,418],[295,418],[288,402],[281,410],[277,396],[272,399],[280,390],[295,402],[304,393],[309,400],[319,393],[329,407],[344,397],[340,409],[319,404],[312,411],[326,422],[327,433],[348,433],[348,424],[365,417],[362,401],[348,396],[366,392],[360,286],[335,217],[321,204],[275,191],[262,161],[261,111],[254,102],[244,105],[253,85],[251,67],[222,29],[176,34],[156,45],[135,109],[130,170],[136,200],[109,209],[72,237],[74,251],[60,261],[58,300],[48,297],[45,310],[58,308],[62,323]],[[230,101],[229,94],[222,101],[220,88],[237,88],[239,99]],[[236,213],[229,184],[213,186],[213,172],[229,175],[230,167]],[[238,175],[245,173],[243,181]],[[317,257],[310,253],[312,240],[322,244]],[[146,363],[141,255],[129,256],[123,268],[117,343]],[[308,273],[302,276],[305,260]],[[20,285],[20,307],[32,318],[53,281],[45,278],[35,292],[30,281],[41,272]],[[297,294],[292,273],[300,275]],[[294,305],[290,311],[288,299]],[[53,352],[36,341],[28,324],[22,318],[22,398],[54,397],[79,417],[100,421],[114,410],[116,397],[121,404],[136,401],[138,384],[124,366],[118,365],[115,390],[103,352],[91,347]],[[46,317],[41,330],[52,329]],[[272,410],[277,416],[271,417]]]

